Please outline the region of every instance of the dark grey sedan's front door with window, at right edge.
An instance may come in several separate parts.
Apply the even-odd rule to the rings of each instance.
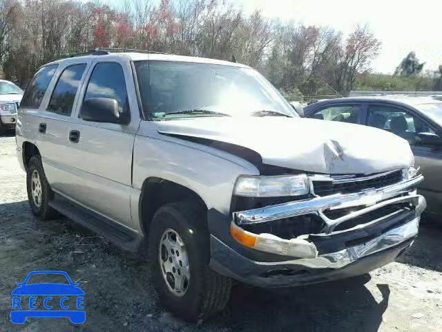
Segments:
[[[410,143],[416,166],[421,167],[425,181],[419,187],[427,199],[430,212],[442,212],[442,147],[423,144],[425,133],[441,134],[432,122],[419,112],[402,106],[383,103],[370,103],[367,109],[367,125],[390,131]]]

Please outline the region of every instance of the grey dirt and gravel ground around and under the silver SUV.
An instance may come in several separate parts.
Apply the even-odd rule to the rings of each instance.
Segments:
[[[442,227],[427,221],[401,261],[365,279],[278,290],[235,286],[226,312],[198,329],[162,310],[143,261],[67,219],[35,219],[15,138],[0,137],[0,331],[441,331],[441,241]],[[79,282],[86,322],[12,324],[10,293],[32,270],[64,270]]]

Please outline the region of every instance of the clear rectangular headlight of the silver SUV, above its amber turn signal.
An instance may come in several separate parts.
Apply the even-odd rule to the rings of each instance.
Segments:
[[[299,196],[308,194],[307,175],[239,176],[234,194],[247,197]]]

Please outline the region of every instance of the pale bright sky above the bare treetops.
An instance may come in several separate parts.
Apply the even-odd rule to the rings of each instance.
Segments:
[[[425,70],[442,64],[442,0],[227,0],[247,14],[258,9],[266,17],[293,19],[305,25],[329,26],[348,35],[368,24],[382,42],[372,70],[393,73],[412,50]],[[119,0],[102,0],[118,6]],[[158,3],[159,0],[152,0]]]

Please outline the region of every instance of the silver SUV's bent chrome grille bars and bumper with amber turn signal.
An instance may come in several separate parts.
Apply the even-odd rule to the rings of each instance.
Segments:
[[[365,190],[353,194],[334,194],[305,201],[293,201],[265,208],[235,212],[233,213],[233,221],[231,221],[231,234],[238,242],[250,248],[276,255],[299,257],[296,264],[318,268],[339,268],[360,257],[372,255],[374,252],[396,246],[416,236],[421,213],[426,208],[425,199],[423,196],[416,194],[415,191],[421,181],[423,181],[423,176],[419,175],[376,190]],[[388,230],[375,239],[369,239],[361,245],[350,246],[345,250],[325,255],[321,255],[314,241],[311,241],[311,235],[314,235],[315,239],[321,239],[321,237],[337,237],[340,234],[349,234],[360,230],[367,233],[365,230],[368,230],[374,224],[382,223],[390,215],[381,216],[376,220],[343,230],[335,230],[335,228],[350,219],[398,203],[407,203],[412,215],[407,214],[407,220],[403,220],[398,228]],[[361,208],[363,206],[365,208]],[[352,207],[358,208],[354,212],[349,212],[337,219],[330,219],[324,213],[325,210]],[[294,239],[281,239],[267,233],[255,234],[243,229],[247,225],[267,223],[303,214],[319,216],[324,222],[323,229],[318,234],[302,234]]]

